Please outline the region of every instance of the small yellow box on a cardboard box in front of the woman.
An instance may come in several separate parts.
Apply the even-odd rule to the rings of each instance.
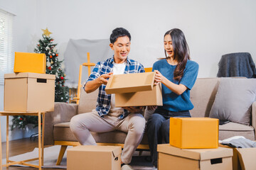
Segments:
[[[217,148],[218,119],[170,118],[170,145],[183,149]]]

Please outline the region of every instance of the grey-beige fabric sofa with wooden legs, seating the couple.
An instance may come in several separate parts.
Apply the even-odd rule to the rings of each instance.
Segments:
[[[191,90],[191,101],[194,105],[191,111],[192,117],[208,117],[210,109],[213,106],[215,95],[218,91],[220,78],[203,78],[197,79],[196,84]],[[60,163],[62,156],[68,145],[79,145],[73,133],[70,131],[70,119],[80,113],[86,113],[95,109],[97,100],[97,91],[86,94],[81,90],[80,103],[55,103],[55,111],[46,113],[45,120],[45,145],[62,145],[57,164]],[[239,123],[227,123],[219,126],[219,140],[242,135],[249,140],[255,140],[256,126],[256,102],[252,103],[252,117],[250,125],[242,125]],[[96,133],[92,132],[96,142],[99,145],[119,145],[123,146],[127,133],[114,131]],[[147,145],[146,133],[142,139],[138,149],[149,149]]]

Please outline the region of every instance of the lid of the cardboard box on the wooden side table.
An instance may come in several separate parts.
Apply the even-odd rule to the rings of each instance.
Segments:
[[[14,78],[55,79],[55,74],[40,74],[40,73],[32,73],[32,72],[4,74],[4,79],[14,79]]]

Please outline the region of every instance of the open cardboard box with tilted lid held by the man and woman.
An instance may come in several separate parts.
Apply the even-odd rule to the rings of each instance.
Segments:
[[[161,84],[154,85],[155,72],[117,74],[110,77],[105,91],[115,94],[116,107],[162,106]]]

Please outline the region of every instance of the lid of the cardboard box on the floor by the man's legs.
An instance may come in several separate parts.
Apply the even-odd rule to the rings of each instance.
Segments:
[[[94,146],[94,145],[80,145],[77,147],[72,147],[68,151],[77,151],[77,152],[112,152],[114,157],[121,154],[122,147],[115,146]]]

